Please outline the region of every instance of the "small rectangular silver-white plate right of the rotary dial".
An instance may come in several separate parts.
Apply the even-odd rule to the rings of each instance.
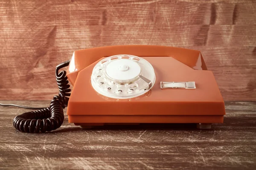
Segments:
[[[195,88],[195,82],[160,82],[161,88]]]

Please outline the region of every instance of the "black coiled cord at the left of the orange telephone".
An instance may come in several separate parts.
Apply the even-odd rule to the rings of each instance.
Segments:
[[[61,68],[67,67],[70,60],[56,66],[56,81],[60,93],[54,96],[48,108],[38,111],[30,111],[16,116],[13,119],[13,126],[26,133],[42,133],[52,131],[61,127],[64,121],[63,109],[67,106],[70,96],[70,85],[68,84],[66,71],[58,71]]]

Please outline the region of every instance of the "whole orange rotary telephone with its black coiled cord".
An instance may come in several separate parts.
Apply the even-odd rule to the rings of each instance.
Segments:
[[[66,71],[59,70],[67,67]],[[222,123],[224,101],[200,51],[157,45],[117,45],[75,51],[56,67],[60,93],[49,108],[16,116],[17,130],[55,130],[67,107],[70,123]],[[73,91],[70,94],[70,85]],[[70,97],[69,97],[70,96]]]

